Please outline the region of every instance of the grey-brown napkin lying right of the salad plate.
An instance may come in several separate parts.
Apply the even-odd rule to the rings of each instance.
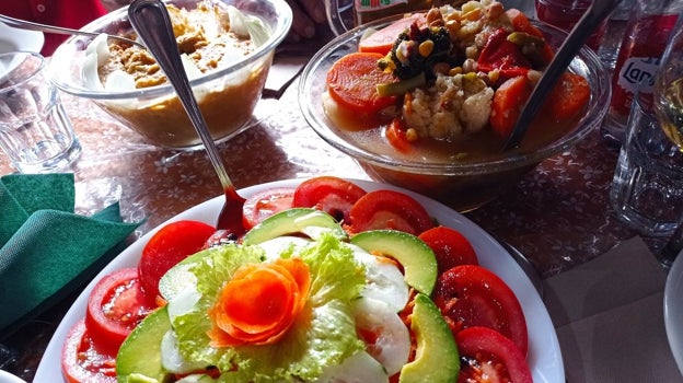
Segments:
[[[634,237],[544,281],[567,382],[683,382],[664,329],[665,280]]]

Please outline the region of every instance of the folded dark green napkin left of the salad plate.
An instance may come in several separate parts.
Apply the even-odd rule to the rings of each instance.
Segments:
[[[72,174],[0,177],[0,338],[89,281],[142,222],[73,212]]]

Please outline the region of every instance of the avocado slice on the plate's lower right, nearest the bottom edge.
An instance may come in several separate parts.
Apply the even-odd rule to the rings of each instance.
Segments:
[[[455,382],[460,353],[439,307],[425,294],[415,297],[410,329],[417,339],[415,360],[401,369],[400,383]]]

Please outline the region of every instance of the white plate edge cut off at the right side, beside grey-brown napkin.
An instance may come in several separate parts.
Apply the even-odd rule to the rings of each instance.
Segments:
[[[683,251],[673,262],[664,287],[664,327],[671,353],[683,373]]]

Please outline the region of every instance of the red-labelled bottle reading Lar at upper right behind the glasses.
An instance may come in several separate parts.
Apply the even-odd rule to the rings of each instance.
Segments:
[[[624,139],[634,91],[651,94],[659,60],[675,26],[683,0],[636,0],[612,77],[610,112],[602,135],[616,146]]]

